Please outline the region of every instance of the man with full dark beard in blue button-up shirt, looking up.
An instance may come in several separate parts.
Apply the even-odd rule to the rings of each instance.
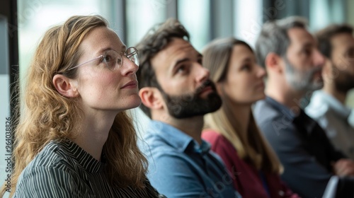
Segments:
[[[239,197],[232,177],[200,138],[203,115],[222,100],[202,55],[174,19],[156,25],[137,45],[140,106],[151,118],[142,151],[149,180],[166,197]]]

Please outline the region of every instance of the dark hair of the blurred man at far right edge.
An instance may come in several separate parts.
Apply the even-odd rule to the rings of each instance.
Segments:
[[[322,30],[319,30],[315,34],[319,42],[319,51],[324,54],[325,57],[331,59],[331,39],[332,37],[342,33],[353,35],[353,28],[346,24],[332,24]]]

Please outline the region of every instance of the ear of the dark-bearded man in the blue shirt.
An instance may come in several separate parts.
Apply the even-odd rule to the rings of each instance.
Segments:
[[[164,100],[158,88],[144,87],[140,89],[139,96],[142,103],[150,109],[161,109],[164,106]]]

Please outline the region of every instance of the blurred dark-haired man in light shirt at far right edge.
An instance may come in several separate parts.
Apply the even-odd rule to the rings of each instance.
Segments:
[[[352,109],[345,105],[348,91],[354,88],[354,37],[349,25],[333,24],[316,33],[319,50],[326,57],[322,71],[324,88],[314,91],[307,115],[325,130],[333,146],[354,159]]]

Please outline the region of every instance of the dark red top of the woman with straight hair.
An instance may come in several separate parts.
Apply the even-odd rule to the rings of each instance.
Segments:
[[[212,151],[217,153],[224,161],[227,169],[232,174],[234,187],[244,198],[253,197],[291,197],[298,198],[299,196],[292,192],[281,180],[280,176],[275,173],[264,173],[266,180],[265,187],[261,178],[261,173],[254,165],[247,163],[239,158],[236,149],[232,144],[221,134],[207,129],[202,132],[202,139],[212,144]],[[267,190],[268,188],[268,190]]]

